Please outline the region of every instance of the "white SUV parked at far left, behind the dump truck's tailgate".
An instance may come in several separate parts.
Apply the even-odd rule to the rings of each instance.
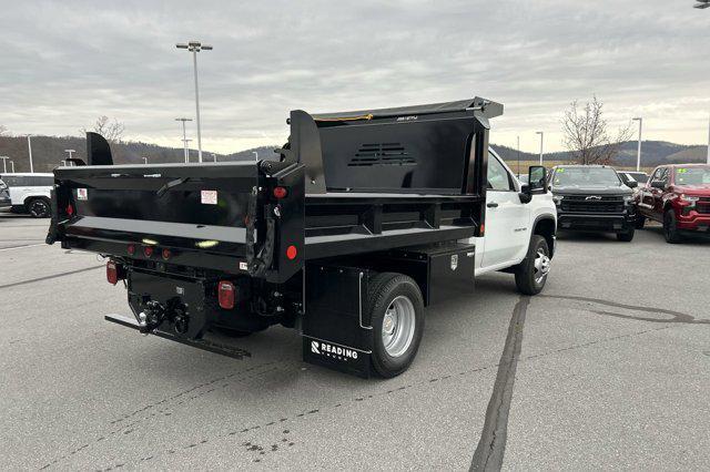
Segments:
[[[53,174],[1,174],[0,179],[10,191],[13,213],[29,213],[34,218],[50,217]]]

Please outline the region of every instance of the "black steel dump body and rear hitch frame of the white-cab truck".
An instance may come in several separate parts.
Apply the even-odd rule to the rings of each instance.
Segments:
[[[189,312],[171,335],[183,341],[293,326],[308,265],[480,234],[488,119],[501,113],[483,99],[293,111],[288,143],[261,162],[112,165],[89,133],[88,165],[54,171],[48,243],[116,263],[136,318],[150,302]],[[239,319],[216,305],[221,280],[239,290]]]

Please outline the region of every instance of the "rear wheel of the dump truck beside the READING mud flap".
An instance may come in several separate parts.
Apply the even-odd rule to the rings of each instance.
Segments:
[[[392,378],[409,368],[424,334],[424,298],[412,277],[383,273],[376,275],[367,290],[373,327],[372,366]]]

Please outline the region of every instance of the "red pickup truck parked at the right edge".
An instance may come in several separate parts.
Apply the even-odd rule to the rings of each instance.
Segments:
[[[637,194],[637,228],[646,218],[663,224],[668,243],[683,236],[710,236],[710,164],[656,167]]]

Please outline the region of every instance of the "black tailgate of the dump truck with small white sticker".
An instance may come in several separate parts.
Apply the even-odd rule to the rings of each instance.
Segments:
[[[54,176],[54,237],[64,246],[245,256],[254,162],[61,167]]]

